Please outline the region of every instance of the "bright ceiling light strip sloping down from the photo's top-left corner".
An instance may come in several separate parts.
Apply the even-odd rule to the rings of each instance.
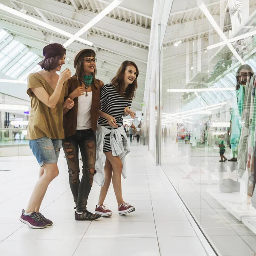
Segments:
[[[10,8],[10,7],[8,7],[8,6],[3,5],[2,3],[0,3],[0,9],[3,10],[3,11],[5,11],[5,12],[9,12],[9,13],[15,15],[15,16],[18,16],[18,17],[20,17],[20,18],[23,18],[23,19],[25,19],[25,20],[29,20],[29,21],[31,21],[32,23],[35,23],[35,24],[37,24],[37,25],[39,25],[39,26],[42,26],[42,27],[44,27],[44,28],[46,28],[46,29],[50,29],[50,30],[52,30],[52,31],[54,31],[54,32],[56,32],[56,33],[61,34],[61,35],[67,36],[67,37],[69,37],[69,38],[72,38],[72,37],[73,37],[73,34],[71,34],[71,33],[69,33],[69,32],[66,32],[66,31],[64,31],[64,30],[62,30],[62,29],[58,29],[58,28],[56,28],[55,26],[52,26],[52,25],[50,25],[50,24],[47,24],[46,22],[43,22],[43,21],[41,21],[41,20],[38,20],[38,19],[36,19],[36,18],[34,18],[34,17],[31,17],[31,16],[29,16],[29,15],[23,14],[22,12],[19,12],[19,11],[15,10],[15,9],[12,9],[12,8]],[[87,40],[85,40],[85,39],[76,38],[76,40],[79,41],[79,42],[81,42],[81,43],[84,43],[84,44],[93,46],[93,43],[92,43],[92,42],[87,41]]]

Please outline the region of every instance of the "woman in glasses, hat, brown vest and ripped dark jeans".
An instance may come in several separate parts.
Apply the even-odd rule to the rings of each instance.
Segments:
[[[96,79],[96,54],[92,49],[76,53],[76,74],[68,80],[69,97],[75,106],[64,115],[63,127],[70,188],[76,204],[77,221],[95,220],[101,217],[87,211],[87,199],[93,185],[96,160],[96,126],[100,108],[100,90],[103,82]],[[83,162],[83,176],[79,180],[79,148]]]

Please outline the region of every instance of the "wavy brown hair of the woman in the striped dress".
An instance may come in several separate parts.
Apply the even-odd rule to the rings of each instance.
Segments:
[[[124,74],[128,66],[134,66],[136,68],[137,74],[132,84],[129,84],[129,86],[127,87],[127,90],[125,93]],[[133,61],[124,61],[119,67],[119,70],[117,70],[116,76],[114,76],[113,79],[111,80],[111,83],[116,87],[116,90],[121,96],[123,97],[125,96],[125,99],[133,99],[135,96],[135,91],[138,87],[138,84],[137,84],[138,76],[139,76],[139,69],[137,65]]]

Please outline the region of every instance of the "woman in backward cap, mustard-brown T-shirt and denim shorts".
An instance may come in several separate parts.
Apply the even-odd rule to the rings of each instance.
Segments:
[[[74,102],[68,96],[69,69],[61,72],[65,64],[66,49],[61,44],[49,44],[43,49],[44,60],[38,64],[43,70],[29,74],[27,93],[31,99],[31,113],[27,139],[40,167],[39,180],[35,184],[26,210],[22,210],[20,221],[35,229],[52,225],[52,221],[39,212],[47,187],[58,176],[58,157],[64,138],[62,117],[65,109]]]

